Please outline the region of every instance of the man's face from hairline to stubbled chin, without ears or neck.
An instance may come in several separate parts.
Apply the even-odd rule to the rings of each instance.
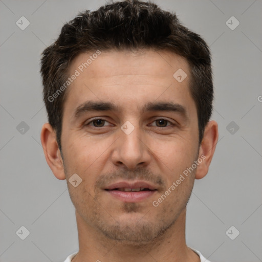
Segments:
[[[90,55],[76,57],[69,75]],[[173,77],[179,69],[187,74],[182,82]],[[185,210],[193,187],[195,170],[156,207],[198,159],[189,65],[169,52],[112,51],[79,72],[67,90],[61,136],[67,181],[74,173],[82,179],[68,183],[77,215],[112,239],[152,241]],[[90,101],[113,108],[88,110]]]

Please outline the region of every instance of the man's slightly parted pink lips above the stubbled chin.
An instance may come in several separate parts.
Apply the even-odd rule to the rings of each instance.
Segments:
[[[157,188],[145,181],[136,181],[133,183],[122,181],[114,183],[104,190],[112,197],[123,202],[139,202],[146,200],[152,194],[156,193]]]

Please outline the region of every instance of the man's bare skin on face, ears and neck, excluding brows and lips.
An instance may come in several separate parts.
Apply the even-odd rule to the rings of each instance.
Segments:
[[[78,55],[69,75],[90,55]],[[187,74],[181,83],[173,77],[178,69]],[[55,130],[49,123],[43,125],[41,143],[56,178],[68,182],[77,173],[82,179],[77,187],[68,182],[79,237],[74,262],[200,261],[185,242],[186,204],[194,180],[208,172],[218,132],[217,123],[208,122],[199,145],[189,77],[187,61],[168,51],[102,52],[66,91],[62,156]],[[76,108],[90,100],[113,102],[119,111],[84,112],[74,117]],[[180,104],[185,113],[142,112],[148,102]],[[91,122],[95,117],[105,122]],[[129,135],[121,130],[126,121],[134,126]],[[154,207],[152,202],[202,155],[205,160]],[[126,203],[103,189],[119,180],[137,179],[150,182],[157,191],[143,201]]]

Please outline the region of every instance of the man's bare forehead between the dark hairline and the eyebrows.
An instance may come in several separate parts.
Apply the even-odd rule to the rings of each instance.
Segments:
[[[179,82],[174,74],[181,70],[186,77],[183,75],[185,79]],[[69,76],[76,72],[65,101],[71,112],[89,100],[112,101],[123,111],[130,111],[134,102],[141,106],[158,99],[184,106],[193,102],[189,64],[169,51],[82,53],[70,64]]]

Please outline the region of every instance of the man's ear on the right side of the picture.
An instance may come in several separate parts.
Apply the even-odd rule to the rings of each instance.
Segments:
[[[205,127],[199,149],[199,159],[203,161],[198,165],[197,171],[195,172],[195,179],[201,179],[206,176],[218,139],[218,125],[215,121],[209,121]]]

